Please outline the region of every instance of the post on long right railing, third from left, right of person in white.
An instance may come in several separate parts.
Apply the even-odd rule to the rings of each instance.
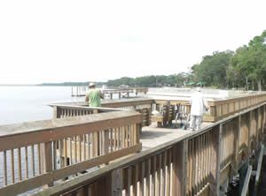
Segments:
[[[211,194],[220,195],[220,156],[223,124],[216,126],[211,134]]]

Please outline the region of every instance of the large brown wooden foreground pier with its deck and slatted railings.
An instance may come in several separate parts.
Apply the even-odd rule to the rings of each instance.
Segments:
[[[266,94],[243,100],[209,102],[199,132],[151,124],[161,100],[51,104],[52,120],[0,126],[0,195],[220,195],[266,133]]]

